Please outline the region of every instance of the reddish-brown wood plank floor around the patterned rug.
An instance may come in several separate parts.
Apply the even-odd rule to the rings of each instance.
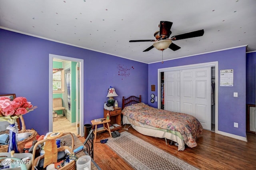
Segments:
[[[124,129],[119,132],[125,131]],[[165,150],[201,170],[256,170],[256,135],[247,134],[248,142],[215,134],[204,130],[197,140],[195,148],[186,147],[178,151],[177,146],[166,145],[164,139],[145,136],[132,127],[127,130],[131,134]],[[102,170],[133,170],[122,158],[100,140],[109,138],[107,132],[97,134],[94,143],[94,161]],[[84,138],[80,140],[84,142]]]

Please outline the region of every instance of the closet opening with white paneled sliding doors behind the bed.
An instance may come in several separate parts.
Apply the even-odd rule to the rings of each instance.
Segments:
[[[215,67],[161,72],[161,109],[195,116],[204,129],[214,131]]]

